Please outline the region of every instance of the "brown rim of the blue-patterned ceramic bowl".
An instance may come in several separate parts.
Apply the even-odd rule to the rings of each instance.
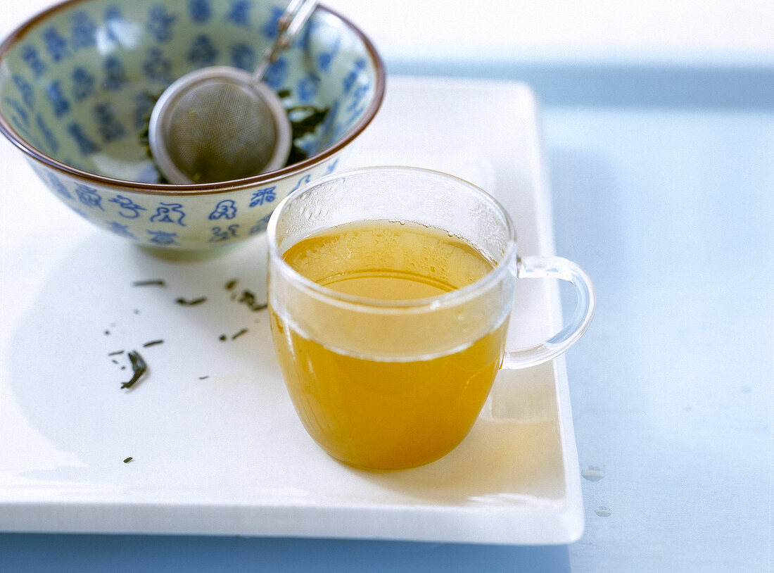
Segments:
[[[13,30],[12,33],[10,33],[9,36],[5,38],[2,43],[0,43],[0,62],[2,62],[3,58],[5,57],[5,53],[10,50],[11,46],[21,40],[29,31],[29,29],[35,26],[38,22],[46,19],[46,17],[52,15],[55,12],[65,9],[70,5],[79,4],[80,2],[87,2],[87,0],[65,0],[64,2],[60,2],[57,5],[53,5],[50,8],[43,10],[43,12],[39,12],[37,15],[33,15],[32,18],[28,19],[26,22],[23,22],[21,26]],[[381,107],[382,100],[384,99],[386,83],[385,66],[382,62],[382,57],[379,56],[374,44],[370,39],[368,39],[368,36],[366,36],[365,33],[363,33],[363,31],[358,28],[358,26],[355,26],[351,20],[345,18],[343,15],[335,12],[327,6],[319,4],[317,5],[317,9],[322,9],[324,12],[328,12],[330,15],[334,16],[334,18],[341,20],[345,26],[351,29],[358,36],[358,38],[361,39],[361,42],[365,45],[366,49],[368,50],[368,54],[372,58],[376,70],[376,81],[374,88],[375,93],[371,104],[368,105],[368,109],[366,110],[365,115],[357,124],[354,125],[354,127],[352,127],[352,129],[345,133],[344,136],[333,146],[329,146],[323,149],[320,153],[317,153],[311,157],[307,157],[307,159],[303,161],[299,161],[297,163],[293,163],[292,165],[283,167],[282,169],[269,171],[269,173],[263,173],[262,175],[257,175],[255,177],[245,177],[244,179],[221,181],[214,184],[173,185],[160,183],[142,183],[140,181],[114,179],[113,177],[105,177],[96,173],[89,173],[88,171],[83,171],[73,166],[67,165],[67,163],[57,161],[53,159],[53,157],[47,156],[39,149],[29,145],[29,143],[22,139],[22,136],[20,136],[19,133],[17,133],[15,129],[9,125],[9,122],[7,122],[2,114],[0,114],[0,132],[2,132],[2,134],[13,143],[13,145],[21,149],[23,153],[33,158],[33,160],[37,160],[40,163],[45,163],[47,166],[53,167],[53,169],[59,170],[62,173],[66,173],[67,175],[89,180],[95,184],[107,185],[110,187],[120,187],[127,193],[145,193],[156,195],[217,194],[245,187],[259,186],[286,177],[286,175],[289,175],[290,173],[303,171],[309,167],[324,162],[331,156],[335,156],[338,153],[341,153],[341,151],[346,146],[348,146],[349,143],[351,143],[358,135],[360,135],[360,133],[368,126],[368,124],[371,123],[372,119],[376,115],[376,112],[378,112],[378,109]]]

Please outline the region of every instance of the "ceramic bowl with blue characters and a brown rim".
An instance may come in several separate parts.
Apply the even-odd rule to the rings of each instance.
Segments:
[[[339,168],[374,118],[385,70],[368,37],[319,5],[269,69],[264,81],[292,114],[325,112],[310,121],[313,129],[294,134],[298,155],[282,169],[165,184],[147,125],[156,98],[177,77],[214,65],[252,70],[285,8],[272,0],[55,5],[0,45],[0,131],[57,198],[99,228],[163,252],[243,241],[265,230],[283,197]]]

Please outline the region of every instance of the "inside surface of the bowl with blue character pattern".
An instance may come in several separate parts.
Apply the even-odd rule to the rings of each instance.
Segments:
[[[156,98],[200,67],[252,71],[285,8],[269,0],[57,5],[5,41],[0,127],[77,170],[163,181],[146,137]],[[375,58],[358,30],[317,9],[264,78],[283,97],[296,128],[291,162],[334,145],[361,121],[375,98]]]

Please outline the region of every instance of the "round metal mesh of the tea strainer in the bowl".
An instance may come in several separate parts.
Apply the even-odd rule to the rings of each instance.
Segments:
[[[269,105],[249,86],[205,81],[176,99],[163,139],[190,180],[214,183],[261,173],[274,153],[277,127]]]

